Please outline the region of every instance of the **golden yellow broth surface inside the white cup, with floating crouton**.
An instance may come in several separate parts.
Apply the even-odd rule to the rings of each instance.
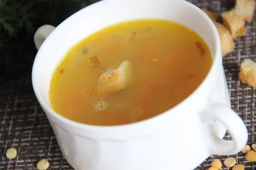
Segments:
[[[164,20],[104,28],[71,48],[50,83],[52,108],[90,125],[122,125],[156,116],[189,96],[212,65],[193,30]]]

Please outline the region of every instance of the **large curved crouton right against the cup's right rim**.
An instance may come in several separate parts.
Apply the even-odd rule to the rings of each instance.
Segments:
[[[234,42],[230,35],[230,32],[224,27],[221,23],[213,21],[215,27],[218,30],[218,34],[221,39],[221,52],[222,57],[225,57],[227,54],[231,53],[234,50]]]

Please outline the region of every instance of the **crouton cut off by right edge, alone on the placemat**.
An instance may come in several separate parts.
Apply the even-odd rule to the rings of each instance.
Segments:
[[[244,59],[240,66],[239,78],[241,82],[247,83],[252,88],[256,87],[256,62],[251,59]]]

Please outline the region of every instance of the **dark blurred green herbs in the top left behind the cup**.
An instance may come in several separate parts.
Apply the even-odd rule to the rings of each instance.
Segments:
[[[0,0],[0,77],[31,71],[36,28],[58,26],[80,8],[81,0]]]

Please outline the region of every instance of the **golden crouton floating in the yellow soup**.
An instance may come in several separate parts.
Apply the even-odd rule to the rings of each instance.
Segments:
[[[131,77],[131,63],[123,61],[119,68],[110,68],[98,79],[98,92],[102,95],[112,94],[124,89]]]

